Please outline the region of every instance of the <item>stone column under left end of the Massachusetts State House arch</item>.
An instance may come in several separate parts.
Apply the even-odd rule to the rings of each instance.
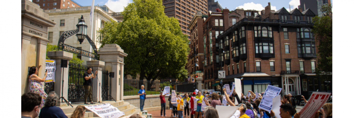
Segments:
[[[58,94],[58,96],[63,96],[66,100],[68,100],[69,63],[67,68],[62,68],[61,63],[62,60],[71,60],[73,58],[73,54],[66,51],[50,51],[47,56],[50,59],[55,60],[56,63],[54,91]],[[63,103],[62,100],[59,100],[59,102],[61,103],[57,104],[57,106],[67,106],[64,100]]]

